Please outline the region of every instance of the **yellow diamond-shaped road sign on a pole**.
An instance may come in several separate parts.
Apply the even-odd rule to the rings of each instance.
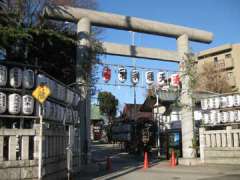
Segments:
[[[32,93],[40,103],[44,103],[50,94],[51,90],[45,85],[38,86]]]

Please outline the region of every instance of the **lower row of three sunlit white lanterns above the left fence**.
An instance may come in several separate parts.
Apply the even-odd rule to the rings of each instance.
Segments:
[[[7,109],[11,115],[17,115],[20,112],[24,115],[31,115],[34,110],[34,99],[30,95],[20,96],[13,93],[7,96],[0,92],[0,114],[5,113]]]

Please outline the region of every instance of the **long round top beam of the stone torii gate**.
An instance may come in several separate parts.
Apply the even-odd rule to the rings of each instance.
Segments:
[[[46,7],[43,15],[50,19],[70,22],[78,22],[81,18],[86,17],[93,26],[129,30],[175,39],[186,34],[189,40],[202,43],[210,43],[213,40],[213,34],[204,30],[70,6]]]

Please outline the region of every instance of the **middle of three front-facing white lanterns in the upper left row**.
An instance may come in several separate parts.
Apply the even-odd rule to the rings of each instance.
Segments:
[[[14,67],[10,69],[10,86],[14,88],[19,88],[22,84],[22,70],[20,68]]]

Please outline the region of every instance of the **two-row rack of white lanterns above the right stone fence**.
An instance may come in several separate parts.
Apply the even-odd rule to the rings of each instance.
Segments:
[[[240,123],[240,95],[229,94],[201,100],[204,125]]]

